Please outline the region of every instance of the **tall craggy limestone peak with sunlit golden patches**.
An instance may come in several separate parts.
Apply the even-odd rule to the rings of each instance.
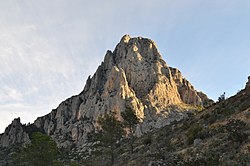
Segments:
[[[165,120],[170,116],[171,120],[185,116],[170,106],[203,106],[207,101],[206,95],[197,92],[178,69],[166,64],[152,40],[125,35],[113,52],[107,51],[104,62],[79,95],[37,118],[34,125],[60,146],[79,147],[87,143],[87,134],[95,130],[98,117],[104,114],[115,112],[122,120],[120,113],[130,107],[143,122],[138,125],[138,133],[143,133],[152,126],[167,124]],[[152,120],[156,124],[147,123]],[[1,146],[6,139],[3,135]]]

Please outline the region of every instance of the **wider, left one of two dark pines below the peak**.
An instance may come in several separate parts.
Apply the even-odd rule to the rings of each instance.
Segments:
[[[116,119],[114,113],[106,114],[98,120],[98,123],[101,126],[101,131],[97,134],[97,140],[108,149],[113,165],[115,159],[114,149],[124,135],[122,123]]]

